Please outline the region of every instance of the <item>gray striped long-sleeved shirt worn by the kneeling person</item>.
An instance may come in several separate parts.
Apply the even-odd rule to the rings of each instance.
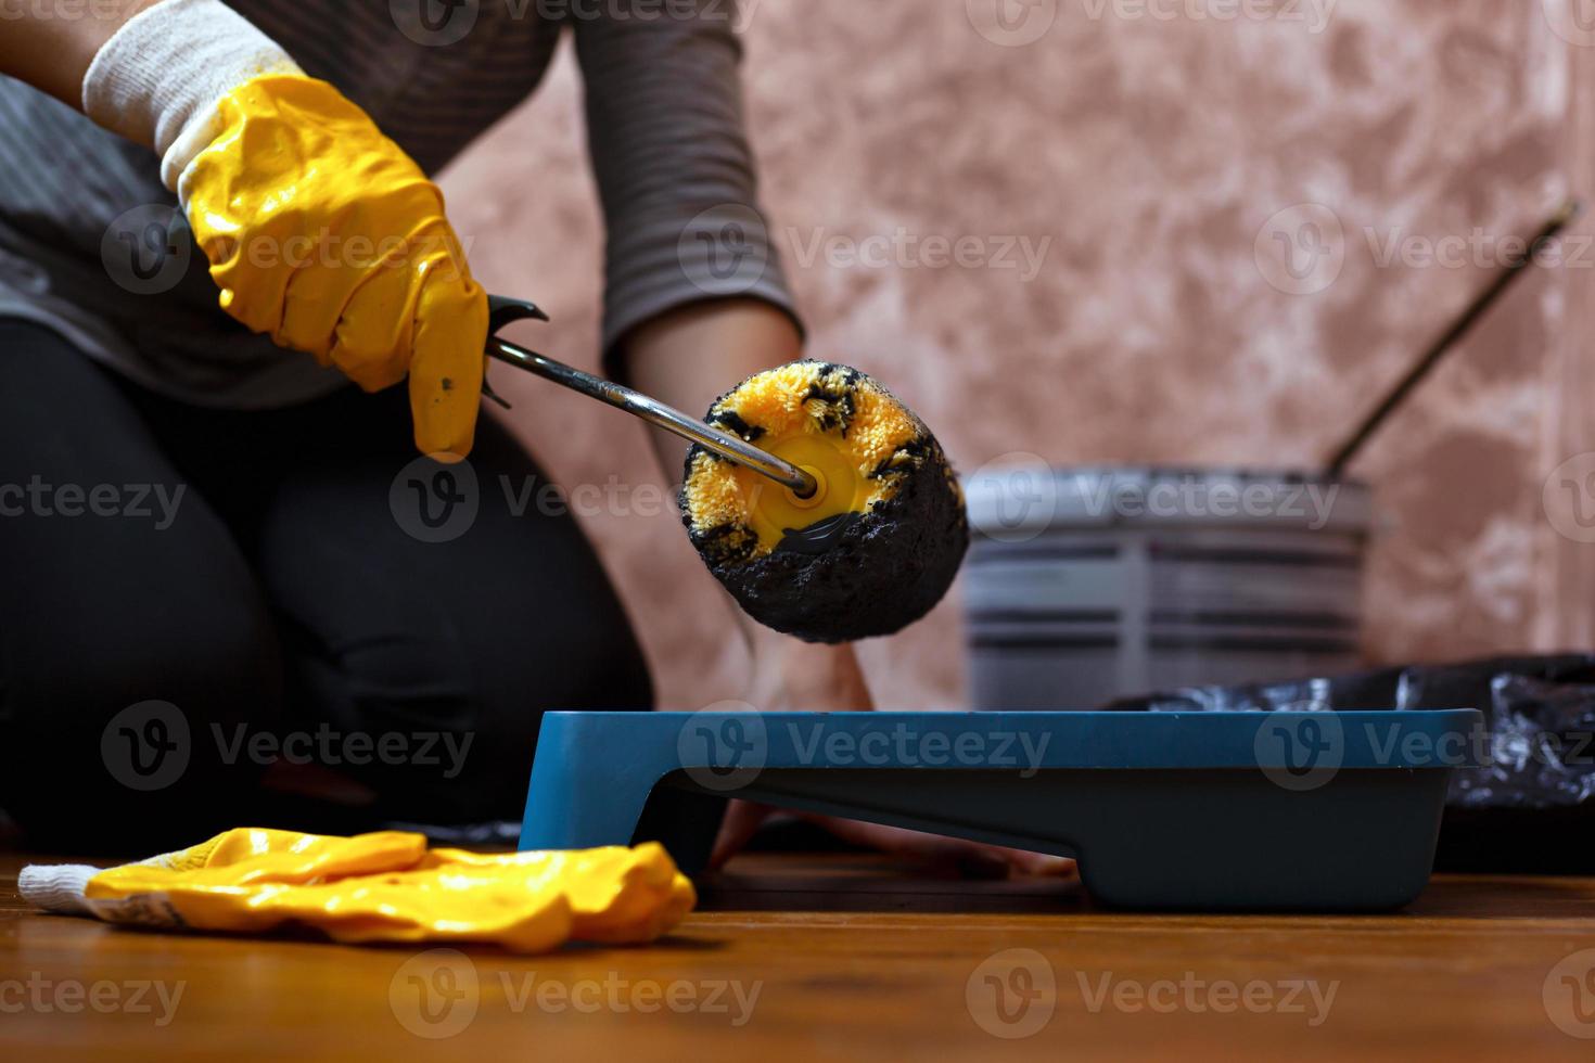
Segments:
[[[230,6],[365,108],[427,172],[538,86],[571,27],[608,229],[605,349],[705,298],[753,296],[791,312],[742,129],[735,0]],[[407,10],[443,18],[407,21]],[[5,316],[48,324],[131,379],[206,406],[281,406],[345,382],[217,308],[153,151],[0,76]]]

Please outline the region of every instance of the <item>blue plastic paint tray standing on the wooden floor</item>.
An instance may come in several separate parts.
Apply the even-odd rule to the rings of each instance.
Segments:
[[[1073,856],[1126,908],[1370,912],[1424,888],[1483,719],[1426,712],[547,712],[522,849],[657,840],[726,798]]]

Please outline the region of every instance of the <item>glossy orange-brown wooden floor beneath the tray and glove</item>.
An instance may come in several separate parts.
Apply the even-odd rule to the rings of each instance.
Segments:
[[[1595,1058],[1573,1036],[1595,1038],[1590,878],[1147,916],[1070,883],[746,856],[664,943],[514,958],[41,916],[19,862],[0,854],[5,1060]]]

